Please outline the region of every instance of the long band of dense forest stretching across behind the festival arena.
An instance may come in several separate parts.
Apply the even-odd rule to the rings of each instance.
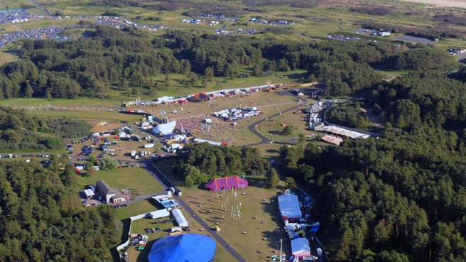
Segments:
[[[327,96],[340,96],[381,82],[371,63],[413,70],[452,65],[426,46],[402,50],[392,43],[263,41],[189,31],[166,31],[151,42],[146,37],[132,28],[96,26],[91,37],[79,40],[23,40],[21,60],[0,67],[0,99],[105,97],[111,84],[127,93],[141,87],[155,94],[161,84],[153,76],[160,74],[182,73],[190,87],[198,77],[267,77],[296,69],[308,71],[306,81],[323,81]],[[242,66],[253,72],[240,72]]]

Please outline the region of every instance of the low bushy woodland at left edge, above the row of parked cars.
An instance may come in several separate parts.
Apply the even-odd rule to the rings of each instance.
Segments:
[[[66,138],[87,136],[91,128],[81,120],[43,118],[0,107],[0,149],[58,149]]]

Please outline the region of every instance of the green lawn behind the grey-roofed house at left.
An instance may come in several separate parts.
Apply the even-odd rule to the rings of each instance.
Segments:
[[[109,186],[118,190],[134,189],[139,195],[148,195],[163,190],[163,187],[151,178],[151,175],[139,167],[99,170],[90,176],[79,176],[78,183],[83,186],[95,185],[98,180],[105,180]]]

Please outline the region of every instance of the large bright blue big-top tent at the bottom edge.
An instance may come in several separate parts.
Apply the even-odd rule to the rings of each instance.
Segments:
[[[149,262],[214,261],[215,240],[201,234],[166,236],[153,244]]]

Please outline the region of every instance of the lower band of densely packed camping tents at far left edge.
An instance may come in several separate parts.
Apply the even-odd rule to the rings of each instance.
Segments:
[[[31,30],[21,30],[13,33],[4,33],[0,35],[0,48],[12,43],[19,38],[31,39],[50,39],[65,41],[72,39],[72,36],[60,36],[59,33],[65,31],[65,28],[60,26],[44,26]]]

